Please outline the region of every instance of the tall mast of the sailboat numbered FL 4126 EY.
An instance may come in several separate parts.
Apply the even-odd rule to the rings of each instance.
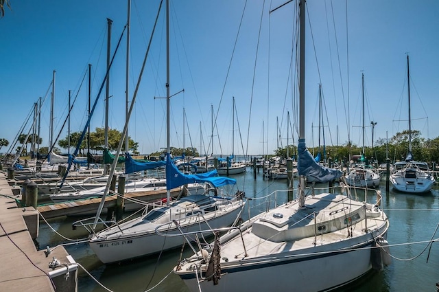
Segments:
[[[169,0],[166,1],[166,157],[171,159],[171,146],[170,146],[170,96],[169,96]],[[167,161],[170,163],[170,161]],[[168,177],[169,179],[169,177]],[[171,191],[166,190],[166,205],[169,205],[171,201]]]

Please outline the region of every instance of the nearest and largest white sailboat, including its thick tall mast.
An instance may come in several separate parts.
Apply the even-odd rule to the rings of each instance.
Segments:
[[[381,268],[389,221],[379,205],[335,192],[305,196],[305,175],[318,165],[305,145],[305,0],[299,5],[298,199],[254,216],[179,261],[174,273],[190,291],[326,291],[363,276],[372,259]]]

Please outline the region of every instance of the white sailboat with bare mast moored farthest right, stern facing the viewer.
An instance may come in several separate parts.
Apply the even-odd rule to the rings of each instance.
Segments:
[[[394,173],[390,175],[393,188],[400,192],[423,193],[429,192],[434,183],[426,162],[414,161],[412,155],[412,120],[410,112],[410,69],[409,56],[407,55],[407,88],[409,102],[409,153],[405,161],[394,164]]]

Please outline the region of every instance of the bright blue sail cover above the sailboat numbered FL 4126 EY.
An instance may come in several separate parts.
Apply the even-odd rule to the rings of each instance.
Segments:
[[[200,173],[198,175],[185,175],[180,172],[175,166],[174,162],[167,154],[166,157],[166,189],[172,190],[173,188],[178,188],[187,183],[205,183],[209,182],[214,187],[226,186],[236,183],[236,179],[230,179],[228,177],[217,177],[217,170],[212,170],[205,173]]]

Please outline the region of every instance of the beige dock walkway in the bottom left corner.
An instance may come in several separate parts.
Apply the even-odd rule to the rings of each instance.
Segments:
[[[0,171],[0,291],[78,291],[78,265],[64,247],[48,255],[36,249],[33,239],[38,238],[38,212],[33,207],[17,206],[19,196],[12,193],[5,177]],[[51,269],[53,258],[61,265]]]

